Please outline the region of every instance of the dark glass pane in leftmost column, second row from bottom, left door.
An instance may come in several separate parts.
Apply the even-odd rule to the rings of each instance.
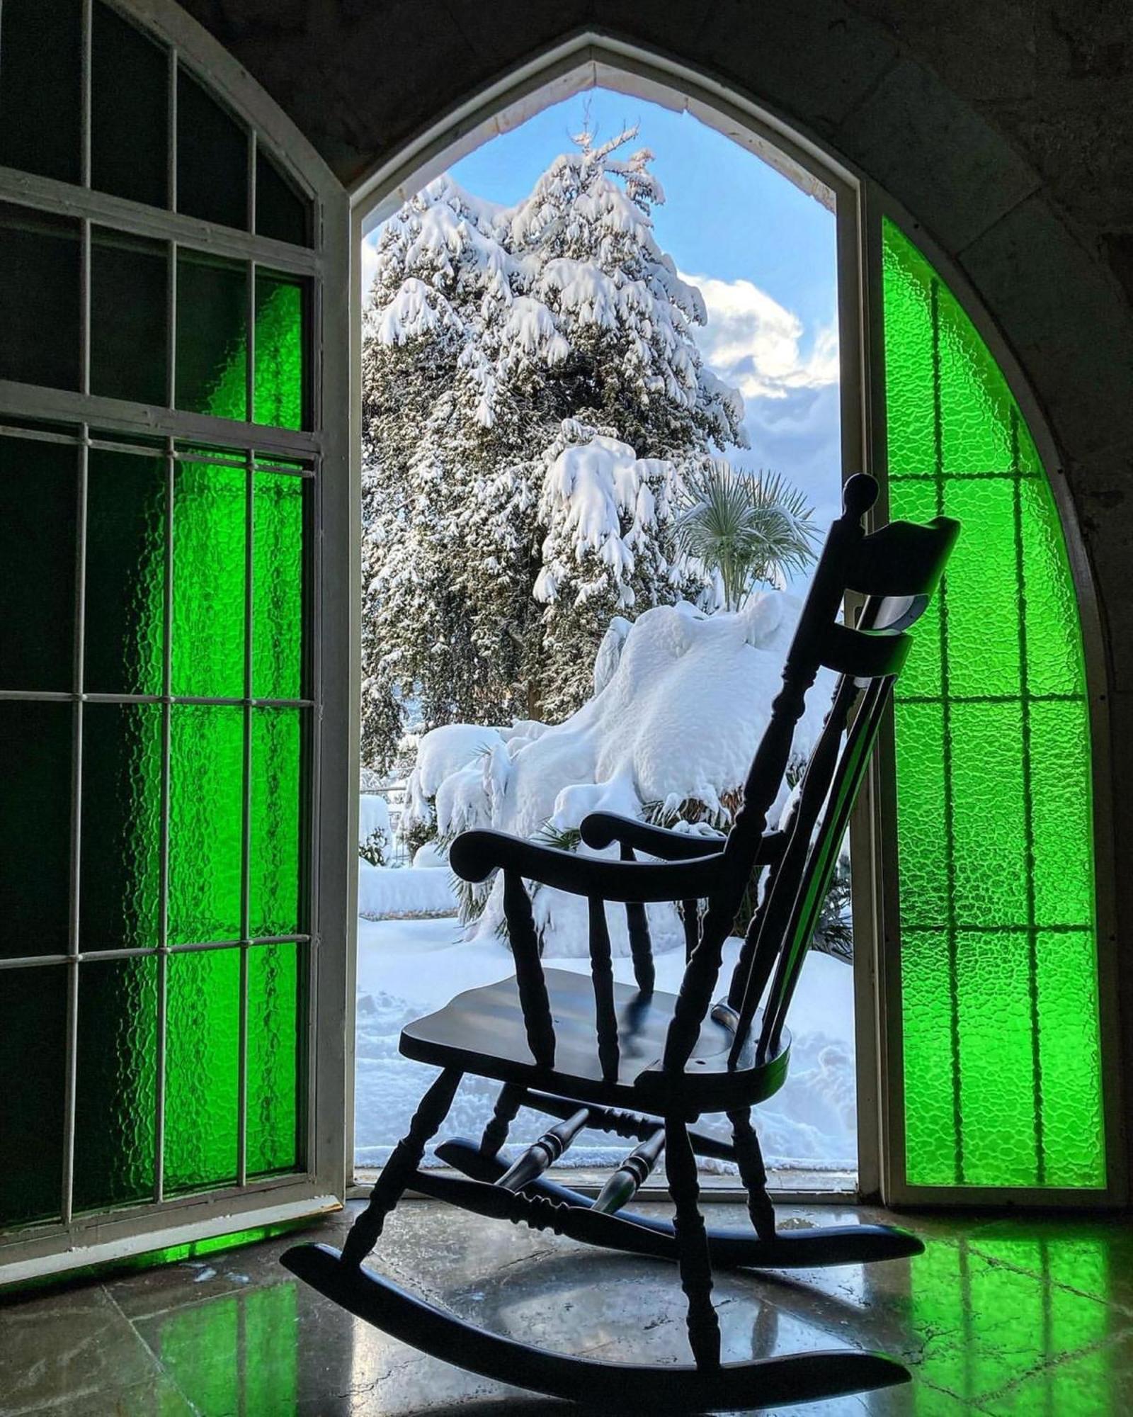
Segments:
[[[67,703],[0,701],[0,955],[6,959],[67,949],[71,716]],[[0,983],[10,978],[4,973]]]

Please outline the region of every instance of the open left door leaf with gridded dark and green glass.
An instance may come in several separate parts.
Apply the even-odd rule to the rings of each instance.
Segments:
[[[41,1271],[343,1183],[346,196],[146,16],[0,13],[0,1257]]]

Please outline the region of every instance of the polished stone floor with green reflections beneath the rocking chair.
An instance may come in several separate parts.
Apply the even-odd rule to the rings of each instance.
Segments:
[[[355,1207],[350,1207],[353,1212]],[[663,1207],[661,1207],[663,1209]],[[350,1212],[309,1231],[341,1241]],[[780,1223],[878,1219],[782,1207]],[[712,1206],[712,1224],[742,1224]],[[908,1223],[908,1221],[906,1221]],[[926,1253],[864,1270],[724,1274],[727,1357],[855,1346],[909,1365],[906,1387],[807,1414],[1133,1413],[1133,1226],[918,1217]],[[11,1417],[558,1417],[574,1408],[423,1357],[295,1281],[279,1238],[0,1306]],[[606,1359],[687,1362],[671,1267],[406,1202],[387,1271],[499,1332]],[[610,1410],[634,1414],[632,1391]],[[653,1414],[650,1414],[653,1417]]]

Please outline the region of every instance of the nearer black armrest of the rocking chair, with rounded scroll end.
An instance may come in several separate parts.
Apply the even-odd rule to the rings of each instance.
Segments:
[[[466,881],[483,881],[491,871],[504,870],[571,896],[647,903],[704,898],[721,880],[724,856],[714,853],[674,863],[608,862],[524,842],[506,832],[474,830],[456,837],[449,864]]]

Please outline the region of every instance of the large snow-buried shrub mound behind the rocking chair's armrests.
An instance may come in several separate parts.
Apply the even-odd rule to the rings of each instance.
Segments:
[[[576,847],[588,812],[610,811],[691,832],[727,830],[739,803],[752,752],[778,693],[799,602],[783,591],[756,591],[736,614],[707,615],[694,605],[659,605],[603,640],[605,682],[578,713],[557,726],[510,728],[452,724],[425,734],[411,782],[433,789],[442,839],[470,826]],[[830,682],[810,696],[795,738],[810,751]],[[773,812],[786,803],[785,784]],[[476,931],[503,918],[499,886],[467,896]],[[548,955],[586,952],[586,903],[538,890],[535,920]],[[650,905],[654,948],[683,948],[677,913]],[[616,952],[627,947],[625,913],[609,910]]]

